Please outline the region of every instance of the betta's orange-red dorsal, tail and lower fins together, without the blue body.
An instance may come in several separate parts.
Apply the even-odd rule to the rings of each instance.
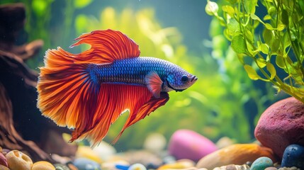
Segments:
[[[80,54],[60,47],[47,50],[37,85],[38,108],[58,125],[74,129],[71,142],[89,137],[96,145],[123,111],[130,111],[125,130],[167,102],[169,96],[154,98],[145,86],[92,81],[90,64],[106,64],[140,55],[138,46],[126,35],[115,30],[96,30],[76,40],[79,41],[72,47],[87,43],[91,49]]]

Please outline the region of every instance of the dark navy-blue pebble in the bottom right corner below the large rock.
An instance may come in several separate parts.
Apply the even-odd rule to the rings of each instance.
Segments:
[[[301,145],[289,145],[283,153],[281,166],[304,169],[304,147]]]

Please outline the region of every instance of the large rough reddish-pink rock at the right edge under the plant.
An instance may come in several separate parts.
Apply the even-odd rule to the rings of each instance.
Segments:
[[[304,145],[304,104],[295,98],[274,103],[259,118],[254,135],[280,158],[288,145]]]

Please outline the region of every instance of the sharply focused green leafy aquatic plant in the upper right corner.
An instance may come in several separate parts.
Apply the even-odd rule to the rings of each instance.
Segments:
[[[208,0],[206,13],[225,28],[225,38],[250,79],[271,82],[278,92],[285,91],[304,103],[304,3],[259,2],[257,7],[257,0],[228,0],[219,8]],[[257,13],[261,9],[265,15]]]

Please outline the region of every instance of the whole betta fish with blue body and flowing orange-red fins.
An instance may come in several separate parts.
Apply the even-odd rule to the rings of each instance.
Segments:
[[[154,57],[139,57],[138,45],[117,30],[94,30],[70,47],[45,52],[38,78],[38,108],[57,125],[72,129],[72,138],[96,145],[125,111],[128,119],[113,141],[138,120],[169,100],[169,91],[184,91],[197,80],[181,67]]]

